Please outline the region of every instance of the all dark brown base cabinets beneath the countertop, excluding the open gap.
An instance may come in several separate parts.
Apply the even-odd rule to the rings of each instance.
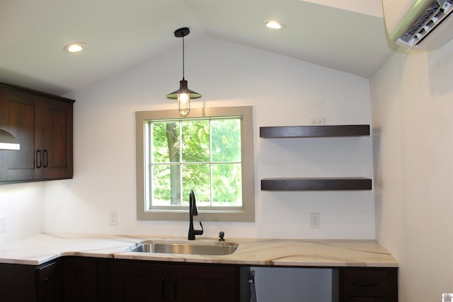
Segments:
[[[0,300],[249,302],[249,272],[240,265],[62,257],[39,266],[0,264]],[[394,267],[332,268],[332,301],[398,302],[397,274]]]

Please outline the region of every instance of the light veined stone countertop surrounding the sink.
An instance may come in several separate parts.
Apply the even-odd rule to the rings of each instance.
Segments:
[[[143,240],[188,241],[180,237],[41,233],[1,245],[0,263],[41,265],[62,256],[82,256],[279,267],[398,267],[395,258],[375,240],[226,238],[239,247],[233,254],[221,256],[128,251]],[[197,237],[195,243],[216,241]]]

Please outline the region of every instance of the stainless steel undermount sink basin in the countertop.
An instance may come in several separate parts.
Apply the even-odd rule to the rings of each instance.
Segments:
[[[130,252],[160,252],[164,254],[229,255],[234,253],[238,246],[238,243],[220,241],[189,243],[187,241],[149,240],[132,245],[128,250]]]

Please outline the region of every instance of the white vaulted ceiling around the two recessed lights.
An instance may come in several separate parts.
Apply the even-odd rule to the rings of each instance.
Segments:
[[[381,0],[0,0],[0,81],[62,95],[180,49],[181,27],[186,46],[212,37],[365,78],[391,54]]]

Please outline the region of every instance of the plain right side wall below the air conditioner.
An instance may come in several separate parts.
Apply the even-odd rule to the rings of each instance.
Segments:
[[[394,54],[371,80],[377,239],[400,263],[399,301],[453,292],[453,41]]]

